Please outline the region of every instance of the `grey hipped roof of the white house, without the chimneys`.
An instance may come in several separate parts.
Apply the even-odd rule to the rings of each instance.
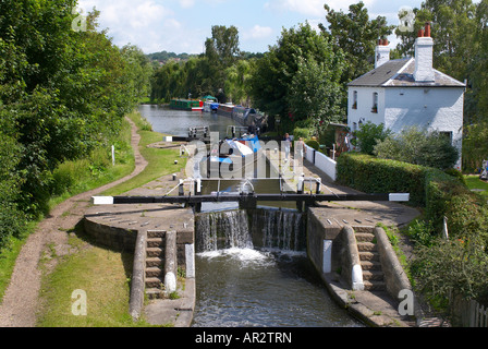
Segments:
[[[415,59],[390,60],[370,72],[349,83],[359,87],[465,87],[457,80],[434,70],[434,82],[416,82],[414,79]]]

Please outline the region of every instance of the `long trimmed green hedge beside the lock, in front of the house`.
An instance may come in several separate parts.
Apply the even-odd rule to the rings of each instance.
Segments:
[[[337,176],[338,183],[366,193],[410,193],[410,204],[424,208],[425,218],[435,226],[444,216],[454,218],[455,213],[473,212],[473,205],[481,205],[456,177],[435,168],[370,155],[342,154],[338,158]],[[465,229],[462,222],[456,225],[455,230]]]

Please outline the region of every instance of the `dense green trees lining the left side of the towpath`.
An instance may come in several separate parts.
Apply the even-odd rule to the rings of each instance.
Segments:
[[[142,50],[113,45],[99,12],[76,4],[0,2],[0,248],[46,214],[56,168],[106,144],[149,94]]]

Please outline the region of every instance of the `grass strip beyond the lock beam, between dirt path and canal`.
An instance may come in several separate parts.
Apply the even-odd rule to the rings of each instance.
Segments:
[[[179,172],[186,165],[186,159],[180,158],[179,148],[160,149],[160,148],[148,148],[147,145],[161,142],[162,133],[147,131],[147,122],[141,117],[138,112],[129,116],[133,120],[139,131],[141,143],[139,151],[144,158],[148,161],[146,169],[138,176],[132,178],[131,180],[121,183],[112,189],[109,189],[101,193],[101,195],[117,196],[133,189],[139,188],[146,183],[149,183],[162,176],[170,174],[173,172]],[[178,165],[174,160],[178,159]]]

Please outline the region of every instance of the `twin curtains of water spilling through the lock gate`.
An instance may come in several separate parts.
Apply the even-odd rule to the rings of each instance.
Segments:
[[[304,215],[281,209],[236,209],[196,215],[196,251],[304,251]]]

